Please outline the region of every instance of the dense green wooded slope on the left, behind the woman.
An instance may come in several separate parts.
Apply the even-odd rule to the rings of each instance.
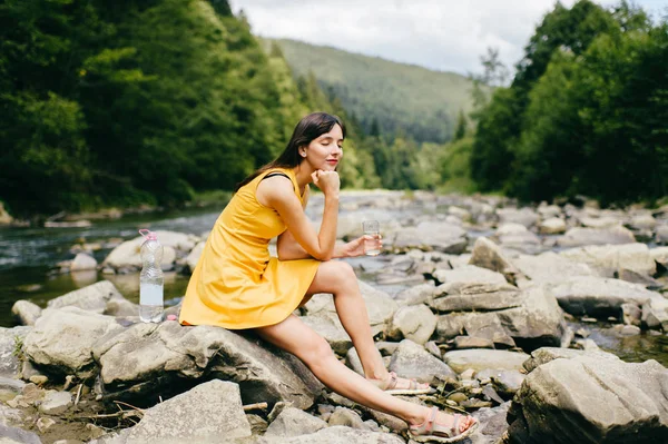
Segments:
[[[233,189],[305,114],[347,118],[225,0],[8,0],[0,23],[0,200],[16,216],[180,205]],[[343,181],[376,185],[356,137]]]

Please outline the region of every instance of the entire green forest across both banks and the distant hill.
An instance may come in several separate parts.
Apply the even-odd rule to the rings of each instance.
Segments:
[[[14,217],[232,190],[315,110],[348,127],[348,188],[667,195],[668,26],[626,2],[557,3],[510,83],[494,51],[465,79],[320,48],[360,80],[327,78],[294,61],[308,46],[261,41],[226,0],[4,0],[0,24],[0,201]]]

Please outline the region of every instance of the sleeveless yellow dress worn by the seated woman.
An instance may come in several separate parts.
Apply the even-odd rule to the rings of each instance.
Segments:
[[[277,211],[257,201],[255,191],[271,169],[243,186],[223,210],[190,276],[179,322],[229,329],[278,324],[297,308],[313,283],[320,260],[269,257],[269,240],[286,227]]]

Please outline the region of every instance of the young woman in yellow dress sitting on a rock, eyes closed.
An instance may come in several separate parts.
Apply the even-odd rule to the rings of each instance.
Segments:
[[[334,392],[404,420],[413,438],[459,441],[475,428],[474,418],[392,396],[426,393],[430,387],[387,373],[374,345],[352,267],[331,260],[364,254],[364,237],[335,244],[336,166],[344,139],[345,127],[338,117],[308,115],[297,124],[285,151],[239,185],[193,272],[179,322],[254,329],[302,359]],[[312,182],[325,199],[318,233],[304,213]],[[269,257],[267,249],[276,236],[278,258]],[[330,344],[293,314],[317,293],[334,295],[338,318],[362,361],[364,377],[343,365]]]

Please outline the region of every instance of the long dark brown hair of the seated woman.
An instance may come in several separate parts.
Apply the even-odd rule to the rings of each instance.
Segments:
[[[235,191],[238,191],[239,188],[255,179],[257,176],[262,175],[267,169],[295,168],[304,159],[302,156],[299,156],[299,147],[311,144],[313,139],[318,138],[325,132],[330,132],[332,128],[334,128],[334,125],[338,125],[341,127],[343,138],[345,139],[345,126],[338,116],[328,115],[326,112],[312,112],[304,117],[295,127],[295,130],[287,142],[287,147],[285,147],[285,150],[281,154],[281,156],[261,167],[258,170],[237,184]]]

